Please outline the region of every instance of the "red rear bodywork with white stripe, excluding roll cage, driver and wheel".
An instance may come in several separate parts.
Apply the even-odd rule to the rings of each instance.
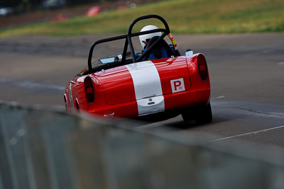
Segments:
[[[70,85],[72,95],[65,93],[70,109],[106,118],[175,110],[181,113],[187,107],[207,105],[210,98],[209,74],[202,54],[115,67],[77,78]]]

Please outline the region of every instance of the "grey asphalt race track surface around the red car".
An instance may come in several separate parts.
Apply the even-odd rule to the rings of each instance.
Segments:
[[[89,46],[110,36],[0,38],[0,100],[62,107],[65,85],[87,66]],[[284,33],[178,35],[175,40],[181,53],[191,48],[207,57],[213,122],[195,125],[178,116],[138,129],[167,127],[178,137],[283,159]]]

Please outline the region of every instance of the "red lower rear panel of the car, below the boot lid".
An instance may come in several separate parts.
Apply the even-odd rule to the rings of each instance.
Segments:
[[[163,98],[163,101],[161,98]],[[108,115],[111,115],[111,119],[117,120],[123,118],[136,118],[163,112],[175,112],[174,114],[180,114],[184,108],[195,105],[207,105],[209,101],[210,88],[200,88],[195,91],[188,90],[179,93],[170,93],[164,96],[155,96],[152,98],[143,98],[137,101],[119,103],[116,105],[105,105],[98,108],[92,108],[88,110],[88,112],[105,118],[107,118]],[[140,103],[140,108],[141,104],[143,105],[142,113],[141,111],[139,113],[138,103]]]

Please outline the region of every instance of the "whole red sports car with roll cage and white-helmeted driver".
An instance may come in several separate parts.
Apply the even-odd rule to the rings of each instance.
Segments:
[[[132,32],[136,23],[149,19],[160,21],[163,27],[147,25],[140,32]],[[143,50],[134,50],[133,38],[139,38]],[[118,40],[124,42],[119,53],[92,62],[97,50],[94,47]],[[160,120],[182,114],[185,121],[212,121],[204,55],[193,55],[190,50],[180,55],[168,23],[158,15],[136,18],[126,35],[97,40],[90,47],[87,62],[88,66],[65,88],[67,110],[112,120]]]

